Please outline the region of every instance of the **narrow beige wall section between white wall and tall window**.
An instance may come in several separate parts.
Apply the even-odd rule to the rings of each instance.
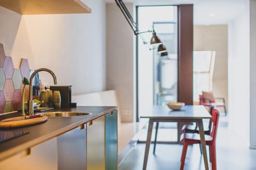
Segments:
[[[126,4],[133,15],[133,4]],[[115,89],[122,122],[133,122],[133,31],[116,4],[107,4],[107,90]],[[124,115],[123,111],[131,111]],[[127,113],[127,112],[126,112]]]

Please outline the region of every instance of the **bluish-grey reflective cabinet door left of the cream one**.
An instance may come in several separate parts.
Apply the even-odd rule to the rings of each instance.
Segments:
[[[86,169],[86,125],[57,137],[58,169]]]

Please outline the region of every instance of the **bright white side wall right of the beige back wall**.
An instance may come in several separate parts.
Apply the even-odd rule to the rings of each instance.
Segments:
[[[243,13],[229,24],[228,109],[230,128],[249,145],[250,119],[250,23],[249,3]],[[254,104],[255,105],[255,104]]]

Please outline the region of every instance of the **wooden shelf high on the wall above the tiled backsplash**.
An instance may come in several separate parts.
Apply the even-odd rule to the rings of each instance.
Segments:
[[[22,15],[92,12],[81,0],[0,0],[0,6]]]

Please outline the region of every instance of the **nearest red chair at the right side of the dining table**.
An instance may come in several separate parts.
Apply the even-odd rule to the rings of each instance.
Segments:
[[[210,160],[212,163],[212,170],[217,169],[215,140],[217,135],[219,116],[220,116],[220,112],[217,109],[213,109],[212,111],[213,123],[212,123],[211,135],[205,134],[206,145],[210,147],[209,152],[210,152]],[[180,169],[183,169],[185,165],[185,158],[187,154],[188,145],[198,144],[198,143],[201,143],[201,141],[200,141],[200,136],[197,133],[185,133],[184,138],[181,141],[183,141],[183,150],[182,150],[182,156],[181,156]]]

